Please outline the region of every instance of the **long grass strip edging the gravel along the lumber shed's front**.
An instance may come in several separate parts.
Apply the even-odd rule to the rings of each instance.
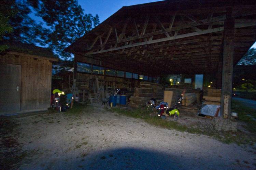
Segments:
[[[193,133],[198,135],[207,135],[227,144],[235,142],[238,145],[241,145],[241,144],[247,144],[250,142],[256,142],[256,139],[254,136],[248,136],[241,131],[238,131],[236,133],[217,132],[217,131],[212,131],[210,128],[200,129],[200,128],[192,128],[185,125],[181,125],[179,124],[179,121],[174,122],[174,121],[162,120],[159,117],[153,117],[150,114],[148,114],[148,112],[146,111],[146,108],[138,108],[138,109],[130,110],[130,109],[121,109],[119,107],[115,107],[107,110],[109,112],[117,113],[119,115],[125,115],[133,118],[142,119],[145,122],[157,127],[170,129],[170,130],[174,129],[180,132],[188,132],[188,133]]]

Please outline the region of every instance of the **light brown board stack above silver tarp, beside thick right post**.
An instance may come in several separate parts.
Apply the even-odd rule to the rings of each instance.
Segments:
[[[220,105],[221,89],[205,89],[203,99],[203,104]]]

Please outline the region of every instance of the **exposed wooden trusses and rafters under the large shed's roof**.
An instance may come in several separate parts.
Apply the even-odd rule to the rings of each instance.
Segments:
[[[254,9],[255,6],[233,7],[234,62],[255,42]],[[185,66],[194,72],[211,72],[221,60],[225,19],[224,7],[128,15],[113,25],[103,24],[76,53],[127,68],[157,70],[161,65],[164,70],[184,72]]]

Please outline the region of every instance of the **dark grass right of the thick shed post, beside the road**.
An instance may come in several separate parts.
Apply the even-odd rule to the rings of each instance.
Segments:
[[[232,100],[232,112],[238,113],[238,120],[245,122],[246,130],[252,133],[256,133],[256,121],[253,120],[256,119],[256,110],[245,106],[243,102]],[[247,115],[251,115],[247,116]]]

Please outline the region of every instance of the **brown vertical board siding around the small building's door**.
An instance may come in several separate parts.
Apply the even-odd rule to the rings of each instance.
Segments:
[[[50,61],[5,54],[0,55],[0,63],[21,65],[20,111],[44,109],[50,106],[52,84]]]

